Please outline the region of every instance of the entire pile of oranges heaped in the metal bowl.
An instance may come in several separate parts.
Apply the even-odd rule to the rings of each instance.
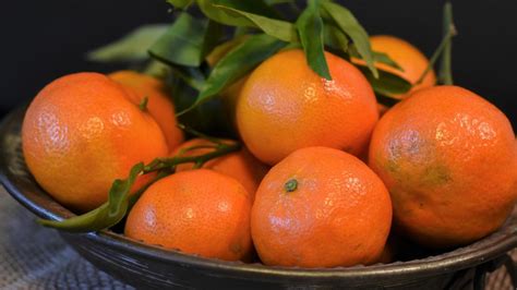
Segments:
[[[371,43],[412,84],[429,64],[399,38]],[[152,184],[124,234],[211,258],[251,262],[256,252],[266,265],[335,267],[385,261],[390,232],[452,249],[504,223],[517,201],[517,142],[503,112],[468,89],[436,86],[432,71],[382,107],[354,65],[325,58],[332,81],[290,49],[233,86],[228,111],[243,147]],[[207,140],[184,141],[165,92],[131,71],[53,81],[23,122],[31,172],[85,213],[137,162],[211,152]]]

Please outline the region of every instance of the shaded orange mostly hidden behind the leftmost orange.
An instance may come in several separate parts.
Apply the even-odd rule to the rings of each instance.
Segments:
[[[133,71],[115,72],[109,74],[109,77],[129,90],[128,95],[134,104],[140,105],[147,97],[147,110],[161,128],[169,150],[180,145],[183,141],[183,132],[177,126],[175,106],[166,94],[161,81]]]

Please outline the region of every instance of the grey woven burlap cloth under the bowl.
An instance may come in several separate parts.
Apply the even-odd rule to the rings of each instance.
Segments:
[[[515,257],[516,255],[514,255]],[[96,269],[0,186],[0,289],[132,289]],[[504,269],[486,289],[513,289]]]

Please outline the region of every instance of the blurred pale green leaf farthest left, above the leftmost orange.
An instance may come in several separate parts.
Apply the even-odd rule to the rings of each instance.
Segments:
[[[96,62],[140,61],[148,58],[147,49],[167,31],[167,24],[141,26],[119,40],[86,55]]]

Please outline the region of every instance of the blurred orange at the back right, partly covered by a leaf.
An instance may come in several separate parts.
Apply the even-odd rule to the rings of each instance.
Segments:
[[[388,57],[394,60],[402,69],[402,71],[394,69],[384,63],[376,63],[376,68],[399,75],[411,84],[416,84],[417,81],[419,81],[420,76],[429,65],[429,59],[417,47],[398,37],[376,35],[370,37],[370,44],[372,45],[372,49],[374,51],[388,55]],[[425,75],[422,83],[413,86],[409,93],[402,96],[397,96],[397,98],[406,98],[412,92],[416,92],[420,88],[434,86],[435,84],[436,75],[434,71],[431,70]]]

